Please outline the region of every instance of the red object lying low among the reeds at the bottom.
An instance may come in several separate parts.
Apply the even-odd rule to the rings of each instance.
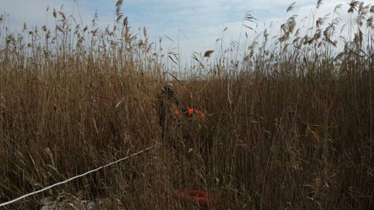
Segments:
[[[181,198],[182,201],[196,201],[201,206],[206,206],[208,202],[215,199],[215,196],[205,191],[199,190],[183,190],[175,191],[173,194],[174,198]]]

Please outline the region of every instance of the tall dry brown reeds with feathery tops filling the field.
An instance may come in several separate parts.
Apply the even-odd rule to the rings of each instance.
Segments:
[[[306,29],[291,5],[273,43],[269,28],[244,50],[233,41],[231,51],[194,54],[196,66],[176,74],[183,85],[173,83],[181,106],[203,110],[206,123],[174,128],[173,149],[154,99],[179,55],[164,56],[146,29],[132,34],[121,4],[113,30],[97,29],[96,15],[84,27],[47,9],[55,29],[12,34],[1,16],[0,203],[160,145],[5,209],[47,196],[199,208],[174,200],[176,189],[212,192],[211,209],[374,208],[374,6],[350,3],[352,36],[336,29],[341,5],[332,22],[311,17]]]

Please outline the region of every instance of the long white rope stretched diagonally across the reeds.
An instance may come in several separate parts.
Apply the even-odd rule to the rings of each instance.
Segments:
[[[142,151],[139,151],[139,152],[137,152],[137,153],[134,153],[134,154],[132,154],[132,155],[130,155],[130,156],[127,156],[126,158],[122,158],[122,159],[120,159],[120,160],[117,160],[116,162],[112,162],[112,163],[110,163],[110,164],[108,164],[108,165],[101,166],[101,167],[99,167],[99,168],[97,168],[97,169],[91,170],[91,171],[89,171],[89,172],[86,172],[86,173],[84,173],[84,174],[78,175],[78,176],[76,176],[76,177],[72,177],[72,178],[70,178],[70,179],[68,179],[68,180],[65,180],[65,181],[63,181],[63,182],[59,182],[59,183],[56,183],[56,184],[51,185],[51,186],[49,186],[49,187],[46,187],[46,188],[44,188],[44,189],[41,189],[41,190],[38,190],[38,191],[35,191],[35,192],[32,192],[32,193],[26,194],[26,195],[24,195],[24,196],[21,196],[21,197],[19,197],[19,198],[16,198],[16,199],[12,200],[12,201],[2,203],[2,204],[0,204],[0,207],[6,206],[6,205],[11,204],[11,203],[14,203],[14,202],[19,201],[19,200],[21,200],[21,199],[24,199],[24,198],[26,198],[26,197],[29,197],[29,196],[32,196],[32,195],[35,195],[35,194],[41,193],[41,192],[43,192],[43,191],[46,191],[46,190],[48,190],[48,189],[50,189],[50,188],[53,188],[53,187],[56,187],[56,186],[58,186],[58,185],[62,185],[62,184],[64,184],[64,183],[70,182],[70,181],[72,181],[72,180],[74,180],[74,179],[76,179],[76,178],[83,177],[83,176],[85,176],[85,175],[87,175],[87,174],[90,174],[90,173],[92,173],[92,172],[98,171],[98,170],[100,170],[100,169],[102,169],[102,168],[108,167],[108,166],[110,166],[110,165],[112,165],[112,164],[115,164],[115,163],[118,163],[118,162],[120,162],[120,161],[126,160],[126,159],[128,159],[128,158],[130,158],[130,157],[136,156],[136,155],[138,155],[138,154],[140,154],[140,153],[143,153],[143,152],[145,152],[145,151],[147,151],[147,150],[153,149],[153,148],[155,148],[156,146],[157,146],[157,144],[154,145],[154,146],[152,146],[152,147],[149,147],[149,148],[147,148],[147,149],[145,149],[145,150],[142,150]]]

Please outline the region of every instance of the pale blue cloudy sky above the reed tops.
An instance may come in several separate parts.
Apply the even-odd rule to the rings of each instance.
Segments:
[[[271,21],[279,28],[287,7],[294,1],[295,9],[290,11],[286,18],[292,14],[298,14],[299,19],[309,16],[317,3],[317,0],[124,0],[122,13],[128,16],[134,33],[139,32],[139,27],[146,26],[151,42],[164,37],[165,51],[177,47],[179,43],[183,59],[188,60],[193,51],[203,54],[205,50],[216,50],[216,39],[221,38],[225,27],[227,30],[223,36],[224,47],[228,47],[231,40],[238,41],[240,34],[241,44],[253,39],[254,32],[242,28],[246,11],[251,10],[252,15],[258,19],[257,29],[254,23],[245,22],[257,32],[262,32]],[[347,22],[348,2],[350,0],[324,0],[316,12],[316,17],[333,13],[335,6],[342,3],[343,23]],[[374,4],[374,0],[366,0],[365,3]],[[83,25],[91,24],[97,10],[98,27],[105,28],[109,25],[109,28],[113,28],[115,4],[116,0],[1,0],[0,12],[9,15],[5,25],[15,32],[21,31],[23,22],[28,29],[35,25],[40,28],[45,24],[48,28],[54,28],[53,8],[59,11],[61,5],[67,16],[73,14],[78,19],[80,14]],[[301,24],[307,25],[308,21]],[[249,36],[247,40],[245,32]]]

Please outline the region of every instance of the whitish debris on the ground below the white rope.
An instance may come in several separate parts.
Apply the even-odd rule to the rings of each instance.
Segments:
[[[98,201],[69,201],[69,202],[57,202],[53,201],[52,197],[44,198],[40,201],[40,204],[43,206],[40,210],[106,210],[102,205],[108,202],[106,200]]]

